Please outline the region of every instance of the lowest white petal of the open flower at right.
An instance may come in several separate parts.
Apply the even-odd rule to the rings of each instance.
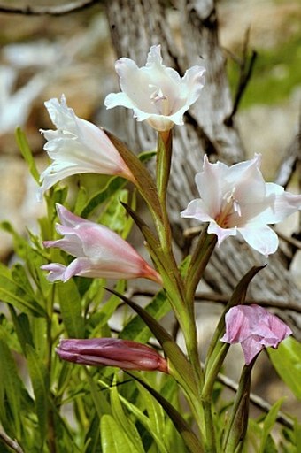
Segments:
[[[257,228],[246,226],[245,228],[237,228],[237,230],[242,234],[245,242],[248,242],[254,250],[259,251],[265,257],[274,253],[278,248],[278,236],[269,226],[263,225]]]

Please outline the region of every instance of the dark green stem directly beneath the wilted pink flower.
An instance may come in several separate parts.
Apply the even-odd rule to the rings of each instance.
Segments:
[[[243,449],[249,418],[251,371],[256,358],[253,358],[250,365],[243,366],[235,402],[224,434],[222,451],[225,453],[239,453]]]

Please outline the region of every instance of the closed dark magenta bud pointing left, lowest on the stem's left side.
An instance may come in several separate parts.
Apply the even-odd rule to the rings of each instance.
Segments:
[[[155,349],[119,338],[61,340],[60,358],[81,365],[118,366],[122,370],[168,372],[166,359]]]

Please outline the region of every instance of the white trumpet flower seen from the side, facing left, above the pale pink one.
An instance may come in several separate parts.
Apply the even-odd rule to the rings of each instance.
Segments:
[[[63,95],[45,103],[57,130],[41,130],[52,163],[42,172],[40,197],[59,180],[79,173],[120,175],[127,180],[134,176],[104,130],[78,118],[66,104]]]

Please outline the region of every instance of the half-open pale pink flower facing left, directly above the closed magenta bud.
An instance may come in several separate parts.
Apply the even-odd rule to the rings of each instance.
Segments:
[[[74,275],[104,279],[145,278],[162,283],[160,275],[144,261],[128,242],[103,225],[98,225],[67,211],[57,204],[58,234],[64,235],[58,241],[45,241],[45,247],[58,247],[73,257],[66,267],[58,263],[42,265],[49,271],[48,280],[67,281]]]

